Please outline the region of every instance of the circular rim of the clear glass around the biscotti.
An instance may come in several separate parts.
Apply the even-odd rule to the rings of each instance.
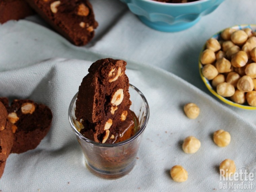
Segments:
[[[146,128],[147,124],[148,124],[148,121],[149,121],[149,104],[148,104],[148,101],[147,99],[145,98],[145,96],[143,95],[143,93],[141,93],[141,91],[139,89],[137,89],[135,86],[133,86],[132,84],[129,84],[133,90],[135,90],[139,95],[140,97],[142,98],[144,104],[145,104],[145,107],[146,107],[146,118],[145,118],[145,121],[143,122],[143,124],[141,125],[140,129],[138,130],[137,133],[135,133],[132,137],[130,137],[129,139],[126,139],[124,141],[121,141],[121,142],[118,142],[118,143],[98,143],[98,142],[95,142],[91,139],[88,139],[86,138],[84,135],[82,135],[74,126],[73,124],[73,121],[72,121],[72,108],[73,108],[73,104],[74,102],[76,101],[76,98],[77,98],[77,95],[78,95],[78,92],[74,95],[74,97],[72,98],[70,104],[69,104],[69,107],[68,107],[68,121],[69,121],[69,124],[71,126],[71,128],[73,129],[74,133],[81,139],[83,139],[84,141],[86,142],[89,142],[95,146],[98,146],[98,147],[103,147],[103,148],[111,148],[111,147],[118,147],[118,146],[122,146],[122,145],[125,145],[126,143],[129,143],[131,142],[132,140],[134,140],[135,138],[137,138],[143,131],[144,129]]]

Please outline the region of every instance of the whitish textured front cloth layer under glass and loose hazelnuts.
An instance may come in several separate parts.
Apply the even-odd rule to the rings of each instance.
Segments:
[[[255,125],[175,75],[128,63],[130,83],[140,89],[149,102],[150,121],[134,169],[118,180],[97,178],[85,166],[67,114],[90,64],[82,60],[51,59],[0,73],[1,96],[44,103],[54,115],[50,132],[35,150],[9,156],[0,190],[211,191],[219,188],[217,167],[226,158],[233,159],[237,168],[246,166],[256,174]],[[197,119],[185,116],[182,107],[187,102],[195,102],[200,107]],[[212,133],[218,129],[230,132],[229,146],[219,148],[214,144]],[[189,135],[201,141],[201,148],[195,154],[185,154],[181,149],[182,140]],[[175,164],[187,169],[187,182],[179,184],[171,180],[169,170]]]

